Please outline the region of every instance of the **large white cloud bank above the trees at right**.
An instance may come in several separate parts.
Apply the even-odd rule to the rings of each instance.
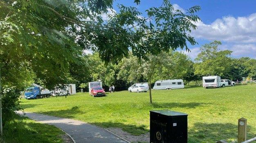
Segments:
[[[256,13],[248,17],[226,16],[211,24],[198,22],[196,25],[198,29],[192,32],[195,38],[234,43],[256,42]]]

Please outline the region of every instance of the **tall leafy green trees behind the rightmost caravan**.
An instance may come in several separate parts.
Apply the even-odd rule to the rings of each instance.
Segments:
[[[230,50],[219,50],[220,41],[213,41],[200,48],[195,58],[195,74],[199,76],[218,75],[221,78],[242,80],[243,77],[256,78],[256,59],[231,58]]]

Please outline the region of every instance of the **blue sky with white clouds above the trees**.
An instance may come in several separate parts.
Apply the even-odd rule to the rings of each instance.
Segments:
[[[162,0],[141,0],[139,5],[133,0],[116,0],[117,4],[136,6],[146,16],[145,10],[153,6],[160,6]],[[177,9],[189,9],[199,5],[202,10],[197,14],[201,18],[198,29],[191,34],[198,45],[189,46],[191,58],[199,52],[201,45],[213,40],[222,42],[221,50],[232,50],[233,57],[249,56],[256,58],[256,0],[171,0]]]

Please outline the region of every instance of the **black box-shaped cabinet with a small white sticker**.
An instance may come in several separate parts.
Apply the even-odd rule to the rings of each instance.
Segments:
[[[169,110],[150,111],[150,143],[187,143],[188,115]]]

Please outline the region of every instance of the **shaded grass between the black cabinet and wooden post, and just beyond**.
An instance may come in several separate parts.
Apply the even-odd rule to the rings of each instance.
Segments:
[[[256,136],[250,132],[251,126],[247,126],[247,139]],[[236,141],[238,134],[238,126],[230,123],[220,124],[207,124],[197,122],[192,128],[189,128],[188,143],[214,143],[221,139],[226,141]]]

